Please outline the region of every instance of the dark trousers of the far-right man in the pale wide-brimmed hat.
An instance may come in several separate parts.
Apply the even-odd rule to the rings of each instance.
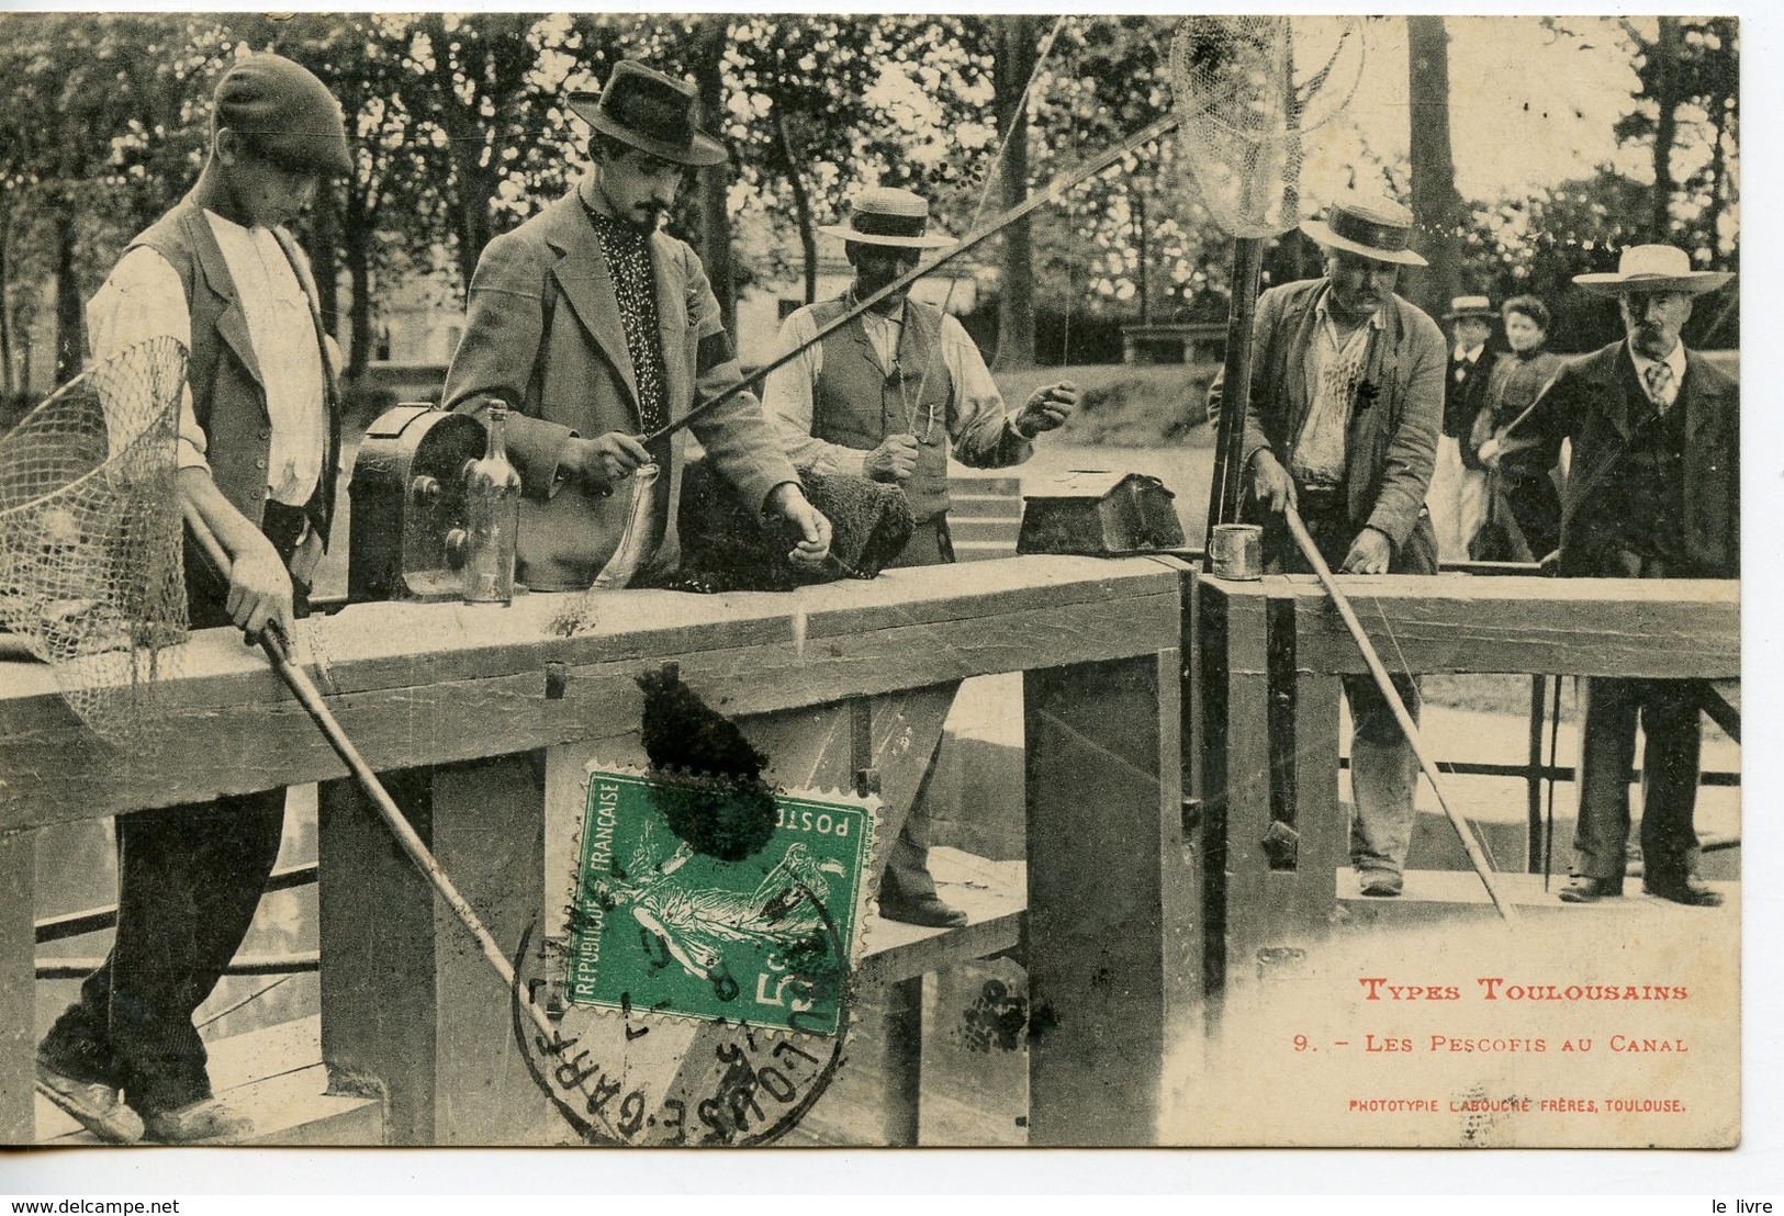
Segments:
[[[1636,724],[1647,735],[1641,758],[1641,861],[1648,883],[1673,883],[1697,870],[1697,777],[1702,726],[1688,681],[1586,681],[1581,758],[1579,872],[1622,879],[1629,849],[1629,777]]]

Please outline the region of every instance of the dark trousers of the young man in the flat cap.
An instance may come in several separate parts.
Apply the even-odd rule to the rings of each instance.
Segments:
[[[275,505],[262,530],[291,562],[301,512]],[[200,560],[189,547],[194,628],[228,619]],[[307,588],[294,590],[301,615]],[[284,790],[118,817],[118,933],[37,1048],[52,1068],[121,1088],[143,1114],[211,1097],[193,1013],[248,936],[284,824]]]

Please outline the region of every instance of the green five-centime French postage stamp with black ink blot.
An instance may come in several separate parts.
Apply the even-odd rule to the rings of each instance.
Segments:
[[[819,1036],[846,1029],[872,806],[776,792],[772,833],[737,861],[698,852],[671,829],[749,795],[589,767],[564,1002]]]

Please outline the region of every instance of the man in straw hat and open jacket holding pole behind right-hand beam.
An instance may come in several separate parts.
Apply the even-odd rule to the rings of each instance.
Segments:
[[[1326,560],[1352,574],[1436,574],[1425,492],[1443,424],[1443,333],[1393,292],[1413,214],[1349,196],[1301,230],[1326,276],[1258,298],[1243,458],[1265,515],[1265,558],[1309,567],[1281,526],[1293,505]],[[1418,717],[1418,685],[1395,676]],[[1368,676],[1345,676],[1356,736],[1350,863],[1365,895],[1399,895],[1413,836],[1418,758]]]

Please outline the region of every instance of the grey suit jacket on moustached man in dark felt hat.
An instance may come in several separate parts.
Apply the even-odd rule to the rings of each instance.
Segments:
[[[587,184],[580,185],[585,189]],[[657,316],[667,371],[669,417],[683,417],[742,378],[699,257],[685,242],[651,235]],[[619,319],[614,280],[587,210],[571,193],[483,250],[471,280],[464,339],[446,373],[446,407],[480,412],[507,401],[508,458],[521,474],[516,578],[535,590],[589,587],[619,546],[630,483],[598,497],[558,485],[564,442],[607,431],[637,435],[639,390]],[[799,481],[751,394],[692,424],[712,467],[746,503]],[[676,514],[687,435],[657,446],[655,508],[664,542],[640,574],[680,560]]]

